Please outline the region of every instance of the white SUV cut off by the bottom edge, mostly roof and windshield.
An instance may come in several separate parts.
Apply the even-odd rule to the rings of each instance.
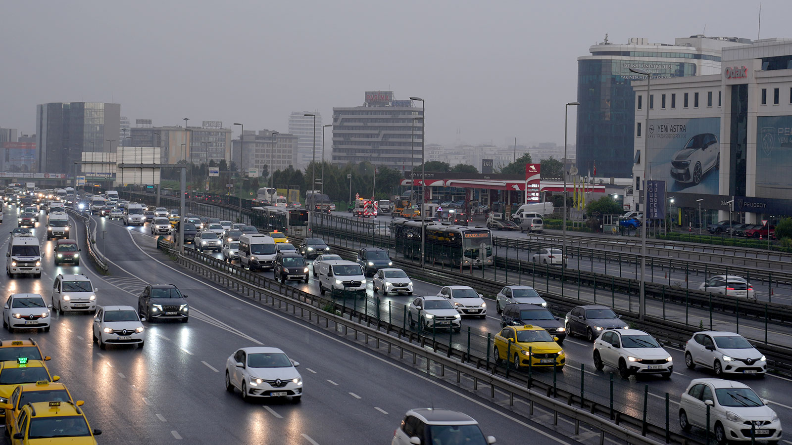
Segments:
[[[419,443],[495,443],[484,437],[478,422],[471,416],[451,409],[410,409],[394,431],[390,445]]]

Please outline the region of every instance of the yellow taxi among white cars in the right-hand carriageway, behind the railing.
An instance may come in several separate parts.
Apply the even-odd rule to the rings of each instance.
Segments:
[[[511,348],[508,340],[512,340]],[[539,326],[506,326],[495,334],[495,361],[501,363],[511,358],[509,361],[518,369],[528,367],[529,363],[531,367],[553,367],[555,363],[560,371],[566,357],[556,341],[558,337],[550,337],[550,333]]]

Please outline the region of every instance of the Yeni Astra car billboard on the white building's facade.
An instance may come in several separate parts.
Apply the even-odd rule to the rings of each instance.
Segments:
[[[718,194],[721,118],[649,120],[649,179],[668,192]]]

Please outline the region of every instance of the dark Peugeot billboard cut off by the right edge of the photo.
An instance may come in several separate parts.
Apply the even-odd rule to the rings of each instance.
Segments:
[[[792,200],[792,116],[759,116],[756,131],[756,196]]]

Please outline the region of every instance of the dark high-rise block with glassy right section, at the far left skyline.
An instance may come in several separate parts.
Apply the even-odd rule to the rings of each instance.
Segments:
[[[115,152],[120,104],[51,102],[36,105],[35,173],[69,173],[82,152]],[[112,141],[112,142],[108,142]]]

